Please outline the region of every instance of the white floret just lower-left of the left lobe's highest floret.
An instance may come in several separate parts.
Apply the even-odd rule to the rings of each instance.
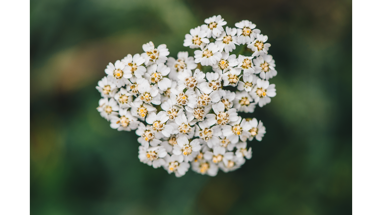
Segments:
[[[143,59],[143,57],[139,54],[135,54],[134,56],[128,54],[121,60],[121,62],[125,64],[125,74],[131,74],[137,78],[142,78],[143,74],[146,72],[146,67],[141,66],[145,63],[145,59]]]

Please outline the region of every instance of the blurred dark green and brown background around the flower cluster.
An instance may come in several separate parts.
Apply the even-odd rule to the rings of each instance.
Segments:
[[[138,160],[133,132],[95,109],[108,62],[166,43],[171,56],[204,18],[248,19],[272,44],[277,96],[254,117],[253,158],[182,178]],[[350,215],[351,0],[32,0],[32,215]]]

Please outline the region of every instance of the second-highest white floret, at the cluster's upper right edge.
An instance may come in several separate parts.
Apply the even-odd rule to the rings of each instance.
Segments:
[[[260,33],[259,29],[254,29],[256,24],[248,20],[242,20],[235,23],[237,29],[237,42],[239,44],[250,44],[255,40],[256,35]]]

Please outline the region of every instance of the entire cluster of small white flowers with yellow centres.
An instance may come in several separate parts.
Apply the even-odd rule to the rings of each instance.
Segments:
[[[97,110],[110,127],[138,135],[139,160],[177,177],[190,168],[215,176],[243,165],[252,157],[247,140],[261,141],[266,130],[262,121],[238,113],[252,113],[276,96],[268,36],[248,20],[236,28],[220,15],[204,22],[184,40],[194,56],[168,57],[165,44],[149,42],[142,54],[109,63],[96,87],[102,96]]]

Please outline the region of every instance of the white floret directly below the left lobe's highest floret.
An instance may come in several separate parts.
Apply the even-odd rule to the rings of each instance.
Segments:
[[[169,73],[170,68],[168,68],[165,64],[153,64],[147,68],[145,78],[150,80],[152,84],[158,84],[158,88],[163,91],[171,87],[171,80],[164,77]]]

